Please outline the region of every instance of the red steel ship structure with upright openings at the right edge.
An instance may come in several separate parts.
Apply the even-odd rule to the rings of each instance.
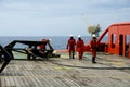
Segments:
[[[108,37],[107,42],[102,42],[104,37]],[[130,22],[113,24],[107,27],[98,38],[99,51],[130,58]],[[86,51],[90,51],[90,44]]]

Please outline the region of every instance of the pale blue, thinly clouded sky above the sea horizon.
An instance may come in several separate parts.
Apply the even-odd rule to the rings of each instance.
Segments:
[[[130,22],[130,0],[0,0],[0,36],[88,36]]]

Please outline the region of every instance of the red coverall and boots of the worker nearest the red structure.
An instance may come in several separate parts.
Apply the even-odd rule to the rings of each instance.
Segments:
[[[92,62],[93,62],[93,63],[96,63],[96,62],[95,62],[96,48],[98,48],[96,40],[92,39],[92,40],[90,41],[90,45],[91,45]]]

